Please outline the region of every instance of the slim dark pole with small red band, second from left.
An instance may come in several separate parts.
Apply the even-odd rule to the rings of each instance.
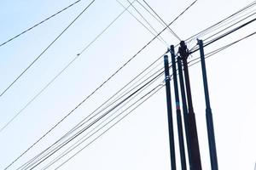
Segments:
[[[184,149],[184,139],[183,139],[183,122],[182,122],[179,96],[178,96],[177,71],[176,71],[175,51],[174,51],[174,46],[173,45],[171,46],[170,52],[171,52],[171,56],[172,56],[172,77],[173,77],[175,103],[176,103],[177,133],[178,133],[181,167],[182,167],[182,170],[187,170],[186,156],[185,156],[185,149]]]

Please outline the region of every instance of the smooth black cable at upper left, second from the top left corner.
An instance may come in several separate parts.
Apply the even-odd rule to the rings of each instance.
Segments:
[[[88,6],[86,6],[86,8],[84,8],[83,9],[83,11],[63,30],[63,31],[61,31],[61,34],[59,34],[59,36],[57,36],[57,37],[55,37],[55,40],[53,41],[53,42],[50,42],[50,44],[47,46],[47,48],[45,48],[44,49],[44,51],[41,53],[41,54],[39,54],[38,55],[38,57],[36,58],[36,59],[34,59],[33,61],[32,61],[32,63],[30,64],[30,65],[28,65],[27,67],[26,67],[26,69],[24,70],[24,71],[22,71],[21,73],[20,73],[20,75],[18,76],[18,77],[16,77],[15,78],[15,81],[14,82],[11,82],[10,84],[9,84],[9,87],[8,88],[5,88],[4,90],[3,90],[3,92],[0,94],[0,97],[3,95],[3,94],[5,94],[6,93],[6,91],[7,90],[9,90],[9,88],[11,88],[14,84],[15,84],[15,82],[17,82],[17,80],[19,80],[20,79],[20,77],[22,77],[22,75],[59,39],[59,37],[61,37],[62,36],[62,34],[64,33],[64,32],[66,32],[67,31],[67,29],[70,27],[70,26],[72,26],[73,25],[73,23],[76,21],[76,20],[78,20],[79,19],[79,17],[82,15],[82,14],[84,14],[84,12],[90,7],[90,5],[92,5],[92,3],[94,3],[96,0],[93,0],[93,1],[91,1],[90,2],[90,4],[88,5]]]

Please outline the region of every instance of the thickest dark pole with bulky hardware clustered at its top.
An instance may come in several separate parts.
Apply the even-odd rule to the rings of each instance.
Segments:
[[[189,143],[191,144],[191,161],[192,161],[192,170],[201,170],[201,156],[198,143],[196,122],[195,122],[195,112],[193,109],[192,95],[189,82],[189,69],[187,58],[189,57],[189,50],[185,45],[185,42],[180,42],[180,47],[178,49],[181,58],[183,59],[183,69],[184,69],[184,78],[187,92],[187,99],[189,104],[189,114],[188,114],[188,123],[189,123]]]

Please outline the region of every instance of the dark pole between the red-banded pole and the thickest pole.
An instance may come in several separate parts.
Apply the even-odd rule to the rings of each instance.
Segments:
[[[177,58],[177,69],[178,69],[180,91],[181,91],[182,102],[183,102],[183,117],[184,117],[185,133],[186,133],[186,139],[187,139],[187,150],[189,155],[189,166],[190,166],[189,169],[192,170],[191,149],[190,149],[191,146],[189,143],[188,106],[187,106],[187,98],[186,98],[186,92],[185,92],[184,80],[183,80],[183,65],[180,58]]]

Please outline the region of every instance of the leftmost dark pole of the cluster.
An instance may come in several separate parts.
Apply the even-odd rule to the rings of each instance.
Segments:
[[[172,121],[172,99],[171,99],[168,55],[165,55],[164,59],[165,59],[164,62],[165,62],[165,75],[166,75],[166,102],[167,102],[167,115],[168,115],[168,127],[169,127],[169,144],[170,144],[170,155],[171,155],[171,167],[172,167],[172,170],[176,170],[175,146],[174,146],[174,135],[173,135],[173,121]]]

